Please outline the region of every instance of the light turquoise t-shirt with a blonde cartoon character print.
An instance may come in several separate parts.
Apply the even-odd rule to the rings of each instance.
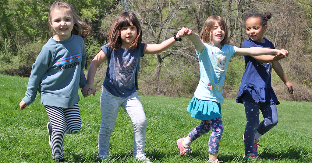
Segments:
[[[200,100],[224,102],[222,93],[225,79],[225,72],[231,56],[236,52],[237,47],[223,45],[219,49],[211,44],[206,44],[205,49],[196,54],[199,60],[200,80],[194,93]]]

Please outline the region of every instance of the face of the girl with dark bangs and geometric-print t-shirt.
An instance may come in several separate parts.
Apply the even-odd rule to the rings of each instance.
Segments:
[[[121,46],[124,49],[128,49],[130,44],[135,40],[137,36],[137,27],[132,23],[130,26],[124,26],[120,29]]]

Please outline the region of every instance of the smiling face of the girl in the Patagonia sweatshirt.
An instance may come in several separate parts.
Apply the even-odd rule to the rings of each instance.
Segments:
[[[54,10],[51,12],[50,25],[56,32],[56,36],[53,37],[56,41],[67,40],[71,37],[71,31],[74,27],[74,18],[70,12]]]

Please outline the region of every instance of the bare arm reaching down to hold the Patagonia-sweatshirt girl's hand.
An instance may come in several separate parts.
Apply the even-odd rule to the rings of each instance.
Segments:
[[[87,97],[91,94],[95,96],[95,88],[94,88],[94,77],[97,68],[107,59],[103,50],[101,50],[92,60],[88,69],[88,79],[87,84],[81,89],[81,93],[84,97]]]

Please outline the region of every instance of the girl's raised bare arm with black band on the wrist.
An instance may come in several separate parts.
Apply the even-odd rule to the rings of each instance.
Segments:
[[[185,29],[181,29],[180,31],[178,31],[178,34],[176,35],[177,38],[182,38],[185,36],[185,34],[183,34],[184,32],[186,32]],[[175,42],[174,38],[171,37],[166,41],[163,41],[160,44],[146,44],[144,47],[144,54],[156,54],[156,53],[160,53],[166,49],[168,49],[170,46],[172,46]]]

